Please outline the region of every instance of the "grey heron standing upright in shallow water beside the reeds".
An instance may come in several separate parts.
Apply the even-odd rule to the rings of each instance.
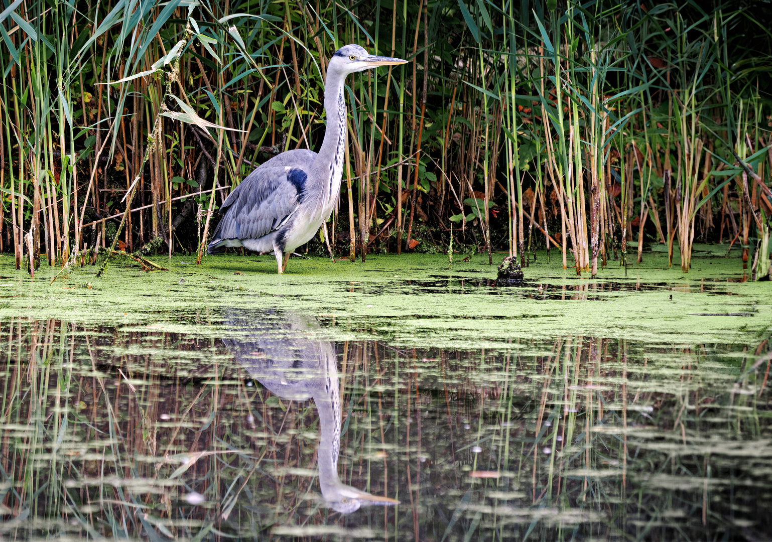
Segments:
[[[338,49],[327,65],[324,109],[327,128],[319,154],[295,149],[261,164],[222,203],[224,213],[207,252],[229,246],[273,252],[279,273],[289,255],[313,238],[327,222],[340,196],[346,147],[344,83],[350,73],[407,60],[374,56],[357,45]]]

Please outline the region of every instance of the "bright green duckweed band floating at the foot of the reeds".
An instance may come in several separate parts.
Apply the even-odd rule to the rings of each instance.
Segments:
[[[772,322],[770,283],[742,282],[736,259],[695,252],[692,271],[667,269],[647,254],[627,271],[611,262],[599,279],[577,277],[559,259],[525,269],[523,286],[496,286],[485,256],[449,269],[445,256],[370,256],[366,263],[293,258],[285,275],[269,256],[215,256],[196,266],[174,256],[168,271],[142,272],[117,260],[74,269],[49,286],[53,269],[34,280],[0,257],[0,316],[56,317],[83,323],[185,323],[174,314],[221,307],[295,307],[338,321],[370,322],[391,340],[429,344],[553,337],[571,333],[667,342],[743,342]],[[702,255],[702,256],[700,256]],[[455,343],[455,341],[460,341]]]

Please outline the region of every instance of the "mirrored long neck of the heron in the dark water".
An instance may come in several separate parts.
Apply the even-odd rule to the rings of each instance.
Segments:
[[[319,485],[322,494],[330,486],[340,484],[337,458],[340,450],[340,390],[337,380],[337,361],[330,352],[327,355],[325,386],[313,395],[319,413]]]

